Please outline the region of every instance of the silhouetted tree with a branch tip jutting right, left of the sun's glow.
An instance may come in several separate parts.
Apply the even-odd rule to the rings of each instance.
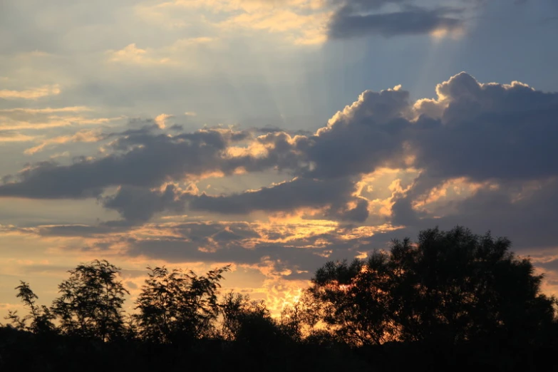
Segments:
[[[192,271],[148,269],[151,272],[136,301],[139,314],[135,319],[140,338],[173,343],[210,336],[219,315],[219,281],[229,266],[200,277]]]

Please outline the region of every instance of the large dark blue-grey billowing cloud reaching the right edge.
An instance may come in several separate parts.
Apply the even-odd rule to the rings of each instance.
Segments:
[[[438,91],[449,102],[442,119],[421,118],[409,135],[418,167],[433,177],[472,180],[558,175],[558,93],[480,85],[466,73]]]

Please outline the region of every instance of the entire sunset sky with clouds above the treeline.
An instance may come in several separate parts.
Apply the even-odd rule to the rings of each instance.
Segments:
[[[0,316],[81,262],[316,269],[456,225],[558,294],[555,0],[2,0]]]

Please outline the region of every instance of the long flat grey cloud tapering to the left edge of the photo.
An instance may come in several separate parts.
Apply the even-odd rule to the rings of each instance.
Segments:
[[[232,164],[222,157],[222,151],[243,136],[217,130],[174,136],[146,130],[120,133],[112,147],[122,153],[84,158],[71,165],[39,162],[19,172],[16,182],[0,185],[0,196],[79,199],[98,197],[110,186],[157,187],[187,175],[216,170],[231,173],[242,162]]]

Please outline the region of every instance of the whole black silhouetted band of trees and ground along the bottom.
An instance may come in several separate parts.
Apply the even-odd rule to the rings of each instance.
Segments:
[[[558,371],[557,301],[507,239],[456,227],[318,269],[299,303],[219,294],[228,267],[150,269],[135,313],[119,269],[81,264],[0,328],[0,371]],[[487,369],[490,368],[490,369]]]

